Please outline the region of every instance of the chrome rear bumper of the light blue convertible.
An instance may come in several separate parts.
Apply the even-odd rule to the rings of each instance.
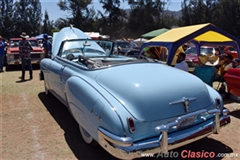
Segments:
[[[230,123],[230,116],[227,115],[228,109],[224,109],[221,112],[220,109],[213,110],[199,110],[193,113],[186,114],[178,117],[174,122],[166,125],[160,125],[155,127],[156,132],[161,132],[159,140],[152,140],[141,144],[134,144],[131,137],[118,137],[112,133],[98,127],[98,143],[110,154],[119,159],[134,159],[140,158],[144,153],[167,153],[168,150],[172,150],[186,144],[192,143],[199,139],[202,139],[212,133],[218,134],[220,127]],[[181,123],[184,119],[192,116],[198,116],[200,114],[214,114],[215,121],[208,123],[198,129],[192,130],[186,133],[180,133],[178,135],[168,138],[168,130]],[[221,117],[220,114],[222,113]]]

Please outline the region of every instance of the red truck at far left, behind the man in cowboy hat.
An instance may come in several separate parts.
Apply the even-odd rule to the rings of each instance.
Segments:
[[[21,61],[19,60],[19,42],[21,40],[22,38],[11,38],[9,40],[7,48],[7,65],[21,64]],[[32,64],[39,64],[41,59],[44,58],[43,49],[38,44],[36,38],[28,38],[27,40],[33,47],[33,50],[31,51],[31,62]]]

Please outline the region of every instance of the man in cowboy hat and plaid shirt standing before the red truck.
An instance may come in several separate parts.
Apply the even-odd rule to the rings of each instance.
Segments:
[[[29,75],[30,79],[33,78],[33,71],[32,71],[32,64],[31,64],[31,51],[33,50],[31,43],[26,39],[29,36],[22,32],[20,35],[22,37],[22,40],[19,42],[19,58],[21,58],[22,62],[22,76],[19,77],[21,81],[25,80],[25,69],[26,69],[26,63],[28,65],[29,69]]]

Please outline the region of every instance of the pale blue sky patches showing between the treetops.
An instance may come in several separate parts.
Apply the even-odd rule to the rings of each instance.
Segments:
[[[57,5],[59,0],[40,0],[42,6],[42,13],[44,15],[45,10],[48,12],[50,20],[57,20],[58,18],[66,18],[70,14],[68,11],[61,11]],[[181,10],[181,2],[182,0],[171,0],[171,3],[168,4],[168,9],[171,11],[179,11]],[[102,10],[102,7],[98,0],[93,0],[93,5],[95,10]],[[127,0],[124,3],[121,3],[122,9],[128,9]]]

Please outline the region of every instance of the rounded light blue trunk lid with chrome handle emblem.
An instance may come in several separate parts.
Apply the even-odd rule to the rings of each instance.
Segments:
[[[199,78],[163,64],[112,67],[101,72],[96,81],[141,121],[180,116],[212,103]]]

